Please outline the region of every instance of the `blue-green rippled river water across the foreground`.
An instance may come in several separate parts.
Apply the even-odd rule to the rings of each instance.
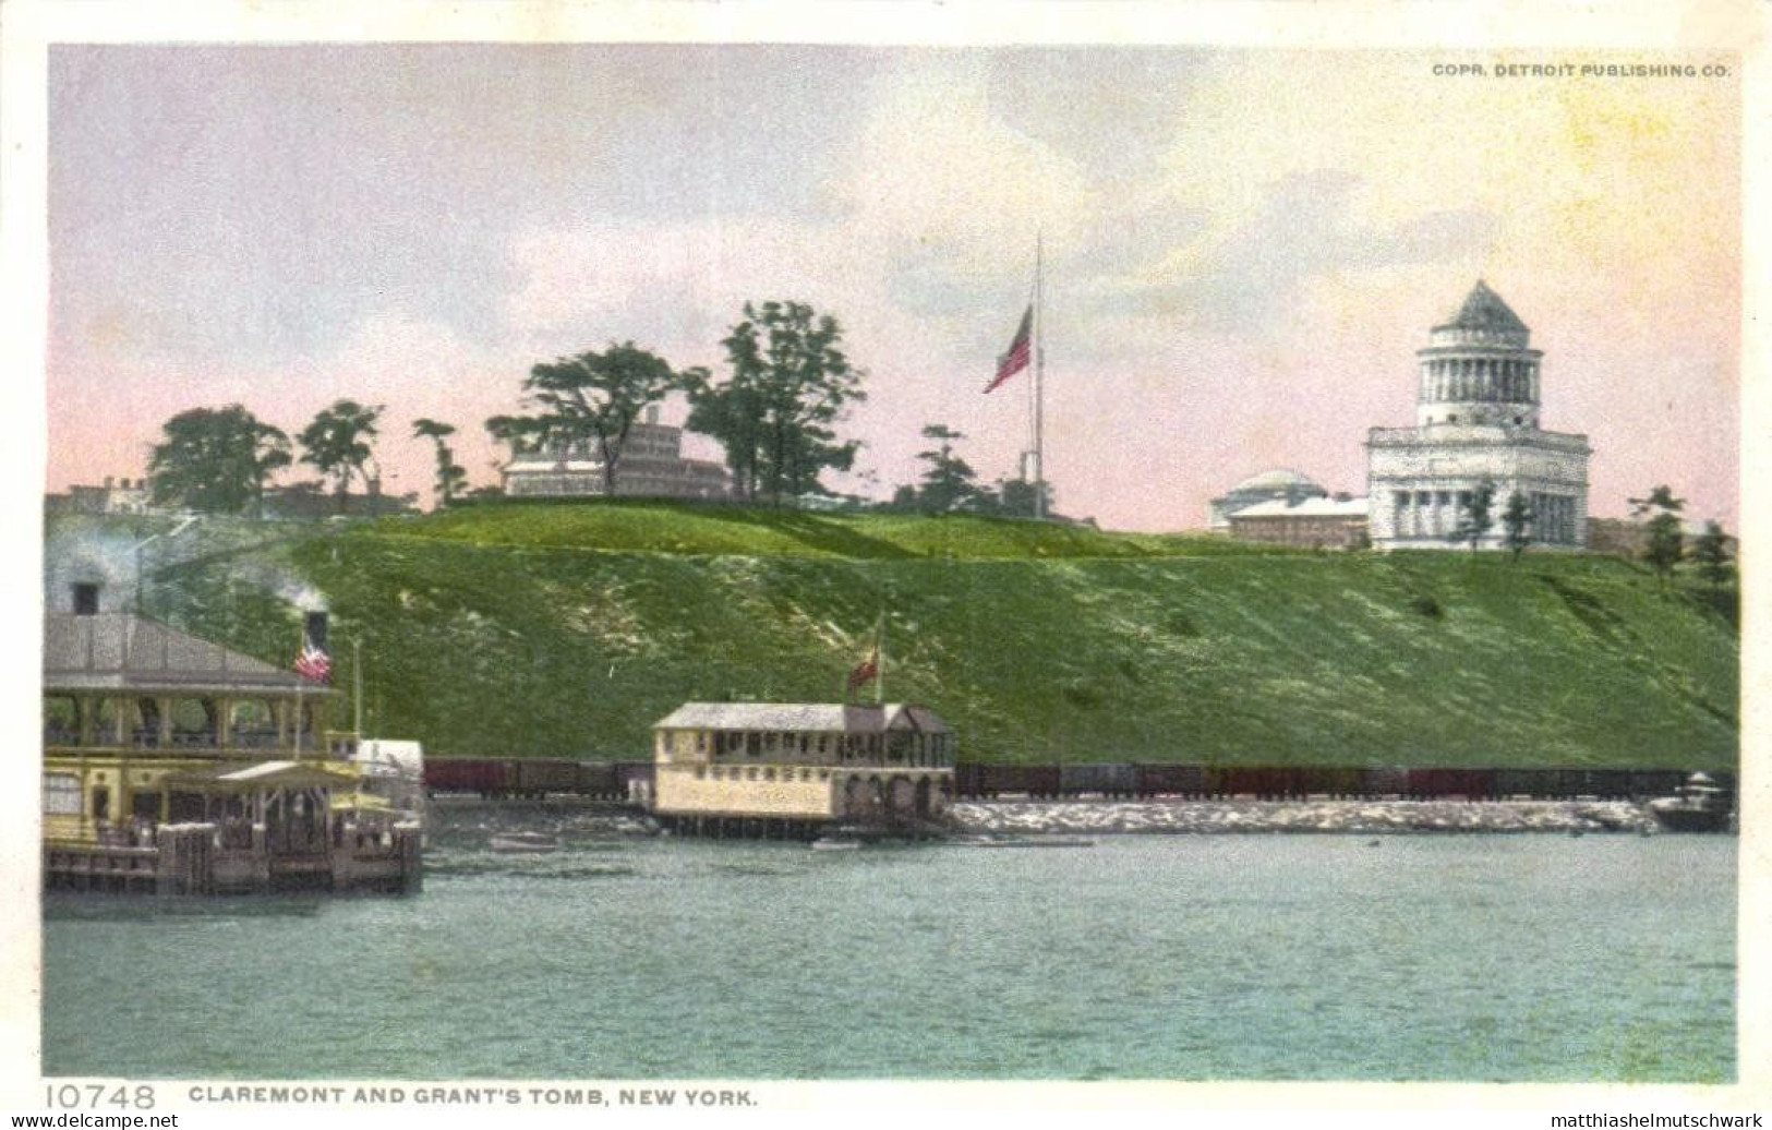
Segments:
[[[563,832],[505,855],[500,827]],[[44,909],[44,1072],[1728,1080],[1733,836],[1014,850],[445,820],[409,898]]]

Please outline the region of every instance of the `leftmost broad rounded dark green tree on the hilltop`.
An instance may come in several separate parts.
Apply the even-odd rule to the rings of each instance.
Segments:
[[[193,407],[161,432],[147,461],[156,505],[262,517],[266,480],[289,466],[289,436],[239,404]]]

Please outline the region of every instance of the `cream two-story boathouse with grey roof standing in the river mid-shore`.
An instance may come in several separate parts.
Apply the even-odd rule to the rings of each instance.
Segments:
[[[652,811],[679,831],[916,831],[953,799],[955,735],[925,707],[684,703],[652,733]]]

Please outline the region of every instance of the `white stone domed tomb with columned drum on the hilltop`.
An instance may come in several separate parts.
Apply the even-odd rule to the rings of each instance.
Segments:
[[[1588,540],[1586,436],[1538,427],[1540,358],[1531,331],[1481,280],[1419,349],[1416,427],[1368,434],[1373,549],[1444,549],[1487,482],[1499,549],[1512,494],[1531,505],[1533,546],[1582,549]]]

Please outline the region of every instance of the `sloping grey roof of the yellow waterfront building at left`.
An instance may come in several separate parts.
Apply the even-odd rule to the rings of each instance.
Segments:
[[[43,689],[337,694],[291,669],[129,613],[48,613]]]

